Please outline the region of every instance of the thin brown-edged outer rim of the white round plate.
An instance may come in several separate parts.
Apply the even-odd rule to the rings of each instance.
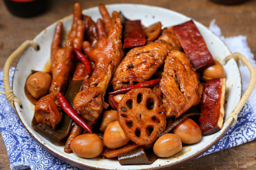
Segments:
[[[142,6],[142,7],[155,8],[155,9],[158,9],[158,10],[164,11],[164,12],[168,12],[168,11],[170,12],[170,11],[171,11],[172,13],[175,13],[175,14],[177,14],[177,15],[181,15],[181,16],[183,16],[183,17],[186,17],[187,19],[192,19],[194,22],[196,22],[197,24],[199,24],[201,27],[204,27],[205,29],[207,29],[208,31],[210,31],[214,36],[216,36],[219,40],[221,40],[222,43],[226,46],[226,48],[229,50],[229,52],[230,52],[230,54],[231,54],[231,51],[230,51],[230,49],[228,48],[228,46],[227,46],[227,45],[224,43],[224,41],[223,41],[221,38],[219,38],[214,32],[212,32],[208,27],[204,26],[202,23],[200,23],[200,22],[194,20],[193,18],[188,17],[188,16],[186,16],[186,15],[184,15],[184,14],[182,14],[182,13],[179,13],[179,12],[176,12],[176,11],[173,11],[173,10],[170,10],[170,9],[167,9],[167,8],[164,8],[164,7],[160,7],[160,6],[146,5],[146,4],[136,4],[136,3],[113,3],[113,4],[106,4],[105,6],[106,6],[106,8],[108,8],[108,7],[110,7],[110,6],[115,6],[115,5],[134,5],[134,6]],[[85,9],[82,10],[82,13],[83,13],[83,11],[93,10],[94,8],[97,8],[97,7],[98,7],[98,6],[93,6],[93,7],[90,7],[90,8],[85,8]],[[39,34],[37,34],[37,35],[33,38],[33,40],[34,40],[34,39],[37,39],[39,36],[41,36],[41,34],[44,33],[45,30],[47,30],[49,27],[53,26],[55,23],[60,22],[60,21],[63,21],[63,20],[66,20],[67,18],[72,17],[72,16],[73,16],[73,14],[70,14],[70,15],[67,15],[67,16],[65,16],[65,17],[63,17],[63,18],[61,18],[61,19],[59,19],[59,20],[53,22],[52,24],[50,24],[49,26],[47,26],[45,29],[43,29]],[[19,58],[18,58],[18,61],[17,61],[16,65],[15,65],[13,77],[14,77],[15,72],[16,72],[16,67],[17,67],[17,65],[18,65],[18,63],[19,63],[19,61],[20,61],[21,58],[22,58],[22,57],[19,57]],[[234,60],[234,59],[232,58],[231,60]],[[241,97],[242,97],[242,79],[241,79],[241,72],[240,72],[240,69],[239,69],[239,67],[238,67],[237,62],[234,62],[234,63],[235,63],[235,67],[237,67],[238,70],[239,70],[239,78],[240,78],[240,83],[241,83],[241,94],[240,94],[239,96],[240,96],[240,99],[241,99]],[[13,79],[13,81],[12,81],[12,89],[13,89],[13,82],[14,82],[14,79]],[[27,129],[27,127],[25,126],[25,124],[23,123],[23,121],[22,121],[22,119],[21,119],[21,117],[20,117],[20,115],[19,115],[19,112],[18,112],[17,109],[16,109],[16,107],[18,108],[19,105],[18,105],[17,103],[14,103],[14,106],[15,106],[15,111],[16,111],[16,113],[17,113],[17,115],[18,115],[20,121],[22,122],[24,128],[27,130],[27,132],[33,137],[33,139],[35,139],[35,141],[37,141],[37,142],[39,143],[40,146],[42,146],[45,150],[47,150],[48,152],[50,152],[50,153],[51,153],[52,155],[54,155],[55,157],[61,159],[61,160],[64,161],[65,163],[68,163],[68,164],[70,164],[70,165],[73,165],[73,166],[78,167],[78,168],[81,168],[81,169],[84,169],[84,168],[87,168],[87,169],[88,169],[88,168],[90,168],[90,169],[100,169],[100,170],[109,170],[109,169],[110,169],[110,168],[100,168],[100,167],[94,167],[94,166],[90,166],[90,165],[85,165],[85,164],[76,162],[76,161],[74,161],[74,160],[71,160],[71,159],[69,159],[69,158],[67,158],[67,157],[64,157],[64,156],[58,154],[57,152],[55,152],[55,151],[49,149],[49,148],[46,146],[46,143],[43,143],[42,140],[41,140],[41,142],[40,142],[40,141],[33,135],[33,132],[30,132],[30,131]],[[184,159],[177,160],[177,161],[174,162],[174,163],[170,163],[170,164],[166,164],[166,165],[159,165],[158,167],[144,168],[144,169],[140,169],[140,170],[147,170],[147,169],[150,169],[150,170],[152,170],[152,169],[165,169],[165,168],[171,168],[171,167],[174,168],[174,167],[176,167],[176,166],[178,166],[178,165],[180,165],[180,164],[182,164],[182,163],[186,163],[186,162],[188,162],[188,161],[190,161],[190,160],[193,160],[193,159],[197,158],[198,156],[202,155],[204,152],[206,152],[207,150],[209,150],[213,145],[215,145],[215,143],[216,143],[217,141],[219,141],[219,139],[222,138],[222,136],[227,132],[227,130],[229,129],[229,127],[231,126],[231,124],[233,123],[233,121],[234,121],[234,118],[233,118],[233,117],[230,117],[230,118],[229,118],[228,120],[226,120],[226,121],[224,120],[224,122],[227,122],[227,128],[226,128],[222,133],[218,134],[207,146],[204,146],[202,150],[199,150],[199,151],[197,151],[196,153],[191,154],[191,155],[187,156],[187,157],[184,158]]]

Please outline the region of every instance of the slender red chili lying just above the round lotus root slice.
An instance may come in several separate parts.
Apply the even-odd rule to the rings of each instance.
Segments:
[[[130,91],[133,88],[141,88],[141,87],[153,87],[155,85],[157,85],[160,82],[161,79],[154,79],[154,80],[150,80],[150,81],[145,81],[145,82],[141,82],[138,84],[134,84],[128,87],[123,87],[120,88],[118,90],[109,92],[110,95],[117,95],[117,94],[124,94],[128,91]]]

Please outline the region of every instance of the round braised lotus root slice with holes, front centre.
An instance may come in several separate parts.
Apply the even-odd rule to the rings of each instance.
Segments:
[[[118,103],[118,122],[125,134],[138,145],[154,142],[165,131],[166,116],[161,100],[150,88],[128,91]]]

